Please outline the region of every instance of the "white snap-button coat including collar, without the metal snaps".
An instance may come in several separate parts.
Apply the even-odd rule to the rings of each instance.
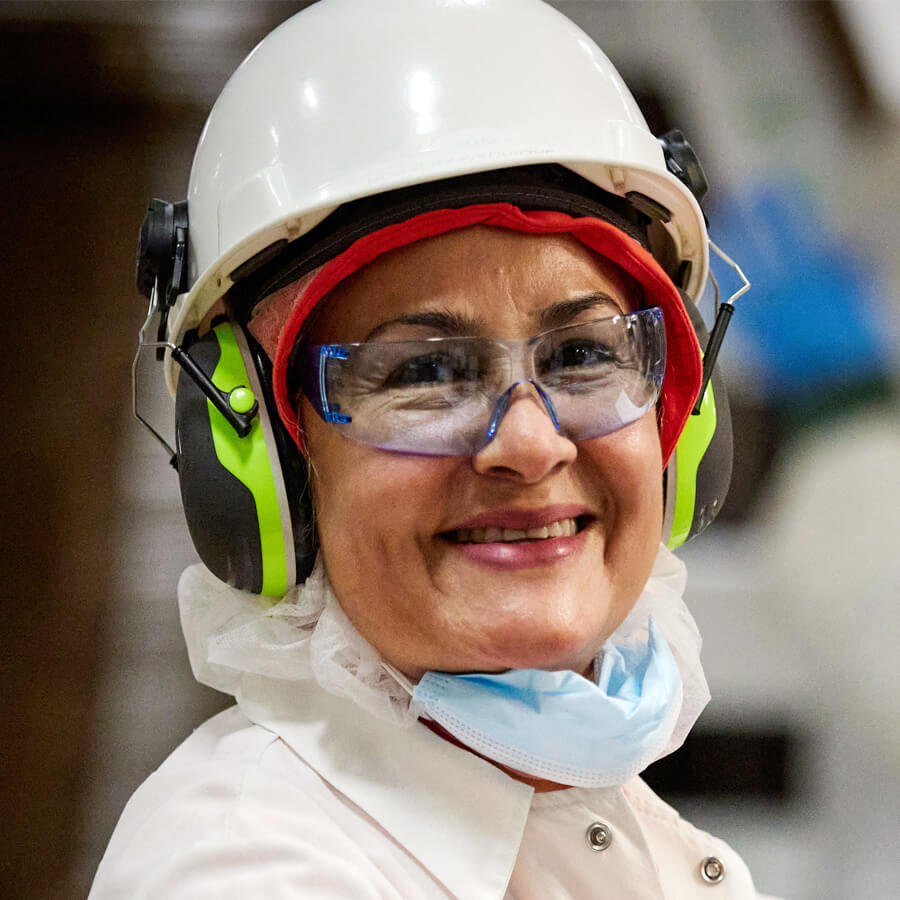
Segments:
[[[247,676],[126,807],[89,900],[745,900],[741,859],[640,779],[534,794],[421,723]],[[587,830],[612,835],[592,850]],[[715,856],[721,883],[703,881]]]

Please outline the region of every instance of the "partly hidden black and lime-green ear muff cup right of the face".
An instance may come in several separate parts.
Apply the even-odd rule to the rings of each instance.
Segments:
[[[682,294],[701,347],[709,332],[700,311]],[[688,419],[666,467],[666,512],[663,540],[670,550],[704,531],[722,509],[734,448],[728,393],[719,367],[713,368],[698,415]]]

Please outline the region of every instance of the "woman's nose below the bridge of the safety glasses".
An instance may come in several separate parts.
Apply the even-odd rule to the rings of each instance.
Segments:
[[[573,462],[578,448],[553,424],[534,387],[519,385],[493,440],[472,458],[479,475],[499,475],[533,484]]]

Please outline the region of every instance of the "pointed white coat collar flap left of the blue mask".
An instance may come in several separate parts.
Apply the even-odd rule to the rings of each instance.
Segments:
[[[451,894],[500,900],[533,790],[420,723],[369,715],[315,682],[244,674],[238,703],[364,810]]]

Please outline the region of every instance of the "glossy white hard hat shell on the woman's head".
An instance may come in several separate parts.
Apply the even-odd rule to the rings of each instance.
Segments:
[[[169,334],[177,342],[236,270],[341,204],[536,163],[649,213],[667,271],[699,297],[698,202],[571,21],[540,0],[319,0],[253,50],[209,115],[188,188],[188,292]]]

